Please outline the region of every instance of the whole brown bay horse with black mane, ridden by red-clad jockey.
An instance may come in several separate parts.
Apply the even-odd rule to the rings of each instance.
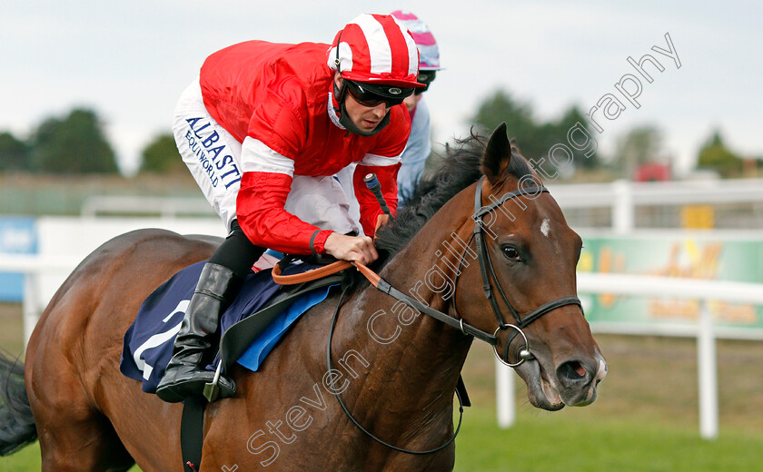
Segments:
[[[355,272],[260,371],[234,367],[237,394],[204,412],[203,470],[452,470],[453,392],[475,337],[515,367],[534,407],[594,401],[606,363],[574,296],[580,236],[505,124],[466,141],[378,235],[371,268],[409,301]],[[20,364],[0,363],[0,450],[38,437],[45,472],[180,470],[183,407],[118,366],[141,302],[214,249],[140,230],[84,259],[29,339],[25,383]]]

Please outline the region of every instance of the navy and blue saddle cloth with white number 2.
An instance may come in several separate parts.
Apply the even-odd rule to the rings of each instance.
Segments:
[[[206,261],[197,262],[180,270],[154,290],[144,300],[134,323],[124,334],[119,369],[130,379],[142,381],[144,392],[156,392],[156,387],[164,375],[164,369],[172,358],[174,339],[180,330],[185,310],[188,308],[204,263]],[[292,264],[282,273],[297,273],[315,267],[318,266],[308,263]],[[283,286],[272,281],[271,271],[260,270],[257,273],[249,273],[238,297],[220,319],[221,335],[237,322],[263,309],[269,300],[285,290]],[[259,369],[265,357],[292,324],[302,313],[325,300],[329,290],[331,287],[312,290],[294,301],[263,329],[237,362],[253,371]],[[218,355],[213,364],[206,366],[206,369],[216,369],[219,361]]]

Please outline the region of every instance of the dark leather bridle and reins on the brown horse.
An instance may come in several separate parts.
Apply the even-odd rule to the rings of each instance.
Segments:
[[[513,198],[517,198],[521,195],[533,195],[537,196],[540,195],[542,192],[549,192],[548,189],[543,187],[542,185],[534,186],[534,187],[528,187],[523,188],[520,187],[518,190],[514,192],[507,192],[502,197],[500,197],[499,200],[495,200],[490,205],[482,206],[482,185],[485,181],[485,176],[482,176],[480,181],[477,183],[477,192],[474,196],[474,214],[472,215],[472,219],[474,220],[474,231],[471,234],[471,238],[469,242],[467,242],[466,246],[464,247],[464,251],[461,254],[461,260],[459,261],[459,265],[456,270],[456,276],[455,280],[453,280],[453,310],[455,311],[456,317],[453,318],[449,316],[446,313],[443,313],[442,311],[434,310],[431,307],[424,305],[420,300],[416,300],[405,293],[401,292],[400,290],[395,289],[391,286],[389,282],[386,280],[381,279],[381,277],[373,272],[372,270],[368,269],[366,266],[355,263],[354,265],[357,267],[358,270],[361,270],[363,275],[372,283],[374,287],[376,287],[378,290],[383,291],[384,293],[387,293],[391,297],[402,301],[403,303],[409,305],[411,308],[415,310],[419,310],[422,313],[426,313],[427,315],[430,315],[435,320],[440,320],[443,323],[455,328],[460,329],[461,332],[467,336],[472,336],[476,339],[481,339],[487,343],[489,343],[491,346],[493,346],[493,352],[495,353],[495,356],[502,362],[503,364],[510,366],[512,368],[516,368],[520,366],[522,362],[525,360],[533,359],[533,355],[530,352],[530,342],[527,339],[527,336],[525,335],[523,329],[527,328],[530,323],[532,323],[535,320],[540,319],[545,314],[548,314],[552,310],[556,310],[560,307],[566,306],[566,305],[578,305],[580,307],[580,310],[582,311],[582,304],[580,303],[580,299],[574,295],[569,297],[561,297],[557,300],[552,300],[548,303],[545,303],[543,305],[540,305],[540,307],[536,308],[535,310],[530,311],[530,313],[527,313],[523,317],[520,316],[519,312],[514,309],[513,306],[511,306],[511,303],[509,302],[509,299],[506,297],[506,293],[501,289],[500,282],[498,280],[498,277],[495,274],[495,270],[493,269],[492,262],[490,261],[490,253],[488,252],[488,246],[485,241],[485,234],[484,234],[484,221],[482,221],[482,218],[490,213],[490,211],[495,211],[505,202],[508,202],[509,200]],[[458,290],[458,277],[461,274],[461,268],[464,267],[464,262],[466,261],[466,255],[467,252],[470,250],[471,241],[474,241],[476,247],[477,247],[477,259],[480,261],[480,272],[482,276],[482,289],[485,291],[485,297],[490,301],[490,306],[492,307],[493,313],[495,313],[496,320],[498,320],[498,328],[495,329],[495,331],[490,334],[487,331],[483,331],[481,329],[475,328],[471,326],[468,323],[465,323],[461,315],[459,315],[458,310],[455,309],[456,306],[456,291]],[[500,299],[503,300],[503,302],[506,304],[507,307],[509,307],[509,311],[511,313],[511,316],[514,318],[514,324],[506,323],[505,320],[503,320],[503,316],[500,313],[500,307],[498,306],[498,300],[493,295],[493,289],[492,286],[495,285],[495,288],[498,290],[498,293],[500,294]],[[347,289],[342,291],[342,295],[340,296],[339,302],[337,303],[336,310],[334,311],[333,317],[332,317],[332,323],[331,328],[329,329],[329,335],[328,335],[328,343],[326,346],[326,362],[329,368],[329,371],[332,370],[332,335],[333,335],[333,329],[336,325],[336,320],[339,316],[339,311],[342,308],[342,300],[344,299],[344,295],[346,293]],[[514,329],[514,332],[509,336],[509,338],[506,340],[504,349],[503,349],[503,357],[501,358],[498,354],[498,351],[495,349],[496,344],[498,344],[498,332],[503,329]],[[509,346],[511,344],[511,341],[520,334],[522,339],[524,340],[524,349],[520,349],[520,359],[517,362],[511,363],[508,358],[509,354]],[[339,401],[340,407],[342,407],[342,411],[347,415],[348,418],[352,420],[352,423],[362,430],[363,433],[365,433],[368,437],[372,438],[374,441],[380,443],[382,446],[390,447],[391,449],[403,452],[406,454],[415,454],[415,455],[424,455],[424,454],[431,454],[433,452],[438,452],[445,447],[448,447],[448,445],[455,440],[456,436],[459,434],[459,430],[461,429],[461,419],[463,418],[463,404],[461,401],[461,394],[459,393],[458,389],[456,389],[457,397],[459,398],[459,424],[456,428],[455,432],[453,433],[453,436],[444,444],[442,444],[439,447],[436,447],[434,449],[425,450],[425,451],[414,451],[409,449],[403,449],[401,447],[395,447],[391,444],[388,444],[384,441],[382,441],[380,438],[376,438],[371,432],[366,430],[362,427],[362,425],[352,417],[352,414],[350,413],[350,410],[347,409],[347,407],[342,402],[342,398],[337,394],[335,395],[337,401]]]

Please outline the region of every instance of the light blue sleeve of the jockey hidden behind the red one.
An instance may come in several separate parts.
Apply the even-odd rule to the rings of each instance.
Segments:
[[[402,152],[402,165],[398,172],[398,204],[411,197],[421,180],[424,164],[431,152],[431,120],[429,107],[423,97],[416,105],[411,123],[411,135]]]

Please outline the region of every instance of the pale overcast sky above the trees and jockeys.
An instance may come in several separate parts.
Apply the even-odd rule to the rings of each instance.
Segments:
[[[328,43],[356,15],[395,9],[419,15],[440,44],[446,70],[426,93],[436,142],[468,133],[468,117],[500,87],[543,120],[615,95],[626,109],[612,120],[595,115],[604,152],[634,126],[654,124],[681,169],[715,127],[732,149],[763,155],[763,7],[733,0],[6,2],[0,131],[25,138],[46,117],[91,107],[133,172],[145,144],[169,131],[177,97],[207,55],[249,39]],[[651,49],[669,48],[665,34],[680,68]],[[651,84],[627,61],[644,54],[664,67],[646,66]],[[642,85],[639,108],[615,87],[626,74]]]

